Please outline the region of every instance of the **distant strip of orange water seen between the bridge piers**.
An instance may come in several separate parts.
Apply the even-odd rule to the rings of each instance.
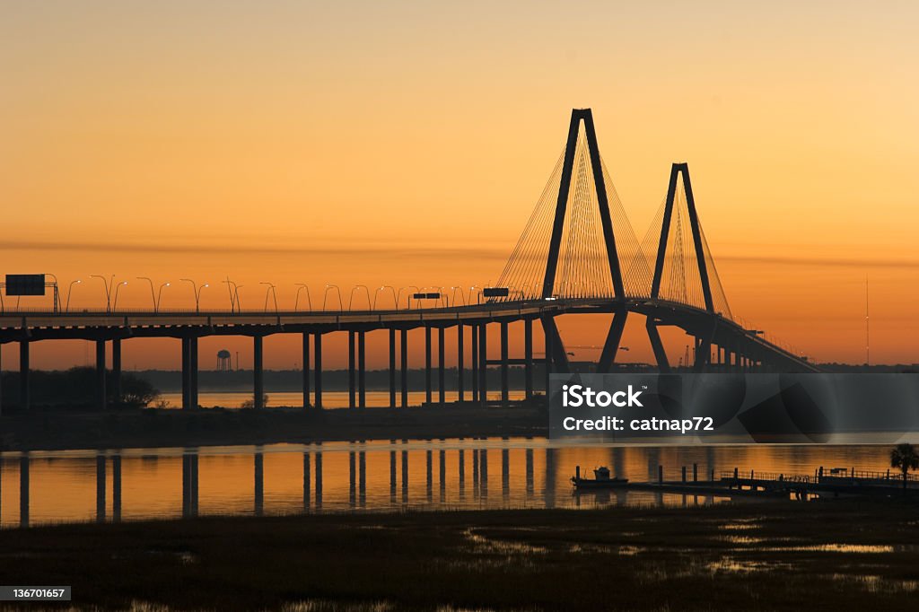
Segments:
[[[456,402],[459,399],[459,393],[456,391],[447,391],[445,394],[447,402]],[[303,393],[301,391],[267,391],[268,404],[272,406],[301,406],[303,405]],[[401,402],[401,395],[396,393],[396,402]],[[251,391],[202,391],[198,394],[198,402],[204,408],[213,408],[221,406],[223,408],[239,408],[243,402],[251,402],[253,394]],[[434,391],[432,398],[437,402],[437,391]],[[466,393],[466,399],[469,400],[471,394]],[[169,402],[173,408],[182,406],[182,393],[160,393],[160,399]],[[489,391],[489,400],[500,400],[501,391]],[[524,399],[524,391],[510,391],[511,400]],[[410,391],[408,394],[408,403],[410,406],[420,406],[425,402],[425,391]],[[348,392],[347,391],[323,391],[323,408],[347,408]],[[369,408],[386,408],[390,405],[389,391],[367,391],[367,406]]]

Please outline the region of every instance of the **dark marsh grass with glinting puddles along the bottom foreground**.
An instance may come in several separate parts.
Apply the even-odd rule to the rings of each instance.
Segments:
[[[33,527],[0,531],[0,575],[71,584],[78,609],[915,609],[916,509],[756,503]]]

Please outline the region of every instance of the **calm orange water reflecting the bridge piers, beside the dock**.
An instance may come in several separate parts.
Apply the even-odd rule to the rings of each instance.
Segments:
[[[885,446],[573,447],[488,438],[264,447],[41,451],[0,455],[0,526],[304,512],[612,504],[710,504],[646,492],[574,495],[574,467],[609,466],[634,482],[722,470],[812,474],[887,470]],[[101,458],[101,459],[100,459]],[[196,478],[197,475],[197,478]],[[687,499],[688,498],[688,499]]]

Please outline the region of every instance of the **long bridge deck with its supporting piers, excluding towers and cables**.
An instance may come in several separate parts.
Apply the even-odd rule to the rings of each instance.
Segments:
[[[323,334],[344,331],[348,334],[348,389],[349,404],[366,405],[365,384],[365,334],[374,330],[389,331],[390,403],[396,402],[396,335],[400,335],[401,402],[408,402],[408,331],[425,329],[425,398],[433,401],[432,338],[438,334],[438,401],[445,402],[445,330],[455,328],[457,333],[458,362],[464,358],[463,329],[471,327],[471,401],[484,403],[487,396],[486,371],[497,364],[501,374],[502,402],[508,402],[508,369],[511,359],[507,341],[510,323],[524,324],[524,357],[526,396],[534,394],[533,366],[548,363],[545,368],[546,386],[551,372],[570,371],[562,338],[554,324],[554,317],[562,314],[613,313],[614,323],[607,335],[598,371],[608,371],[612,365],[622,327],[628,313],[646,317],[646,327],[652,341],[655,357],[662,371],[669,370],[664,347],[657,328],[676,326],[696,338],[697,370],[737,371],[766,368],[777,371],[817,371],[805,359],[767,342],[753,331],[745,330],[720,315],[667,300],[637,299],[571,299],[550,300],[492,300],[481,304],[448,308],[420,308],[413,310],[378,311],[312,311],[312,312],[40,312],[6,311],[0,313],[0,344],[19,344],[20,376],[19,404],[28,409],[28,353],[32,342],[43,340],[80,339],[96,342],[97,389],[96,401],[105,407],[110,398],[120,396],[120,344],[122,340],[143,337],[173,337],[182,340],[183,407],[198,406],[198,339],[210,335],[247,335],[254,338],[254,390],[255,407],[264,405],[263,338],[271,334],[302,334],[303,405],[322,408],[322,338]],[[542,323],[546,334],[545,359],[533,358],[533,321]],[[487,358],[486,326],[496,323],[501,328],[500,359]],[[617,331],[618,330],[618,331]],[[312,338],[312,351],[311,351]],[[111,375],[106,382],[106,343],[112,343]],[[714,348],[714,357],[712,357]],[[311,376],[311,352],[313,357]],[[2,366],[2,364],[0,364]],[[465,401],[465,370],[458,370],[459,401]],[[312,402],[311,397],[312,378]]]

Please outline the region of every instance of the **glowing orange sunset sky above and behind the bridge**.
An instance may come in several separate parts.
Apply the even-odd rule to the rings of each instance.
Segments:
[[[590,107],[640,238],[689,164],[732,312],[863,362],[868,277],[872,362],[919,362],[917,23],[913,2],[4,2],[0,274],[82,278],[81,309],[105,306],[92,274],[129,281],[119,308],[150,307],[138,277],[172,281],[164,308],[193,306],[179,278],[223,309],[228,276],[245,308],[262,281],[282,308],[299,282],[314,305],[326,283],[482,285]],[[562,333],[601,344],[599,323]],[[85,363],[39,345],[36,367]],[[201,367],[224,345],[251,342],[209,340]],[[179,363],[177,341],[124,350]],[[298,351],[272,338],[267,367]]]

